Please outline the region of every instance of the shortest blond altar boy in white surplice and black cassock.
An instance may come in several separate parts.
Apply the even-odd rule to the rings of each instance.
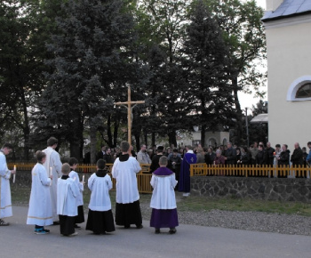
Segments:
[[[77,235],[75,221],[77,215],[76,198],[80,190],[75,180],[69,177],[70,165],[64,163],[61,166],[61,173],[57,183],[57,214],[60,216],[60,234],[73,237]]]

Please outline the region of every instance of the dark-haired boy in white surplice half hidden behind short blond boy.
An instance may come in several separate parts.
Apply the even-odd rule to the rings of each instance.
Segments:
[[[75,229],[81,230],[81,227],[78,226],[77,224],[83,223],[84,220],[84,182],[80,181],[79,179],[79,174],[76,173],[76,166],[78,165],[78,161],[76,157],[70,157],[68,161],[70,165],[70,173],[69,177],[72,178],[76,186],[79,189],[79,195],[76,197],[76,207],[77,207],[77,215],[76,215],[76,221],[75,221]]]

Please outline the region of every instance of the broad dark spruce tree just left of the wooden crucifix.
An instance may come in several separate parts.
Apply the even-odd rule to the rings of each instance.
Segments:
[[[41,103],[46,119],[40,128],[65,136],[72,157],[82,158],[84,126],[94,135],[102,125],[100,114],[113,108],[123,85],[137,81],[134,24],[123,2],[69,0],[62,7],[66,17],[57,19],[61,33],[48,45],[55,58],[47,60],[53,70],[46,75],[49,85]]]

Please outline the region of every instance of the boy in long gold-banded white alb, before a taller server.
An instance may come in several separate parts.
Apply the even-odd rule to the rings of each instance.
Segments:
[[[27,224],[35,225],[35,234],[44,235],[50,232],[44,226],[52,225],[52,205],[50,184],[52,175],[47,177],[44,168],[46,154],[43,151],[36,151],[36,165],[31,171],[31,193]]]

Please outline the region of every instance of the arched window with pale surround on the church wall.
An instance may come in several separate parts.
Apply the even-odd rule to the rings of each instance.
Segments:
[[[311,76],[299,77],[292,82],[287,101],[311,101]]]

